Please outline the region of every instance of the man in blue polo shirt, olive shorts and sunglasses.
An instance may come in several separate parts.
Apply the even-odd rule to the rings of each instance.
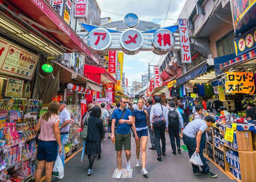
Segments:
[[[131,164],[131,124],[132,124],[132,112],[126,109],[127,99],[125,97],[120,98],[120,107],[117,108],[112,115],[112,126],[111,126],[111,140],[115,142],[117,151],[117,166],[118,173],[116,179],[122,177],[122,150],[124,146],[126,156],[126,170],[130,171]],[[123,115],[123,117],[122,117]],[[122,119],[121,119],[122,118]],[[116,128],[116,131],[115,131]]]

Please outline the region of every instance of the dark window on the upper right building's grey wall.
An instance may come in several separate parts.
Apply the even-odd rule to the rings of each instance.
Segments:
[[[225,35],[222,39],[216,42],[218,56],[235,53],[234,49],[234,31]]]

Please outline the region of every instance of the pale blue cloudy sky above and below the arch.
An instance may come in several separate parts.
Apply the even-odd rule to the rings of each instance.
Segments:
[[[170,0],[97,0],[97,2],[101,9],[101,18],[110,17],[113,21],[123,20],[124,16],[121,15],[132,12],[138,15],[139,19],[152,21],[163,27],[163,25],[171,26],[176,23],[186,0],[171,0],[166,18],[175,20],[166,19],[165,21],[163,19],[165,19]],[[125,77],[128,78],[129,86],[132,86],[133,81],[141,82],[141,74],[145,74],[145,71],[147,73],[148,62],[151,65],[157,64],[159,58],[159,55],[151,51],[141,51],[135,55],[124,54],[123,72],[125,72]]]

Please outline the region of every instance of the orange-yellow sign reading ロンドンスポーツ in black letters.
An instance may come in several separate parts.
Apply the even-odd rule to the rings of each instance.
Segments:
[[[227,93],[253,94],[255,90],[253,73],[225,72],[225,87]]]

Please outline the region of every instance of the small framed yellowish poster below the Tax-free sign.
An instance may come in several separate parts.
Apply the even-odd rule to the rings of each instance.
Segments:
[[[7,78],[6,82],[6,89],[5,89],[5,96],[6,97],[22,97],[22,90],[24,80],[18,80],[15,78]]]

